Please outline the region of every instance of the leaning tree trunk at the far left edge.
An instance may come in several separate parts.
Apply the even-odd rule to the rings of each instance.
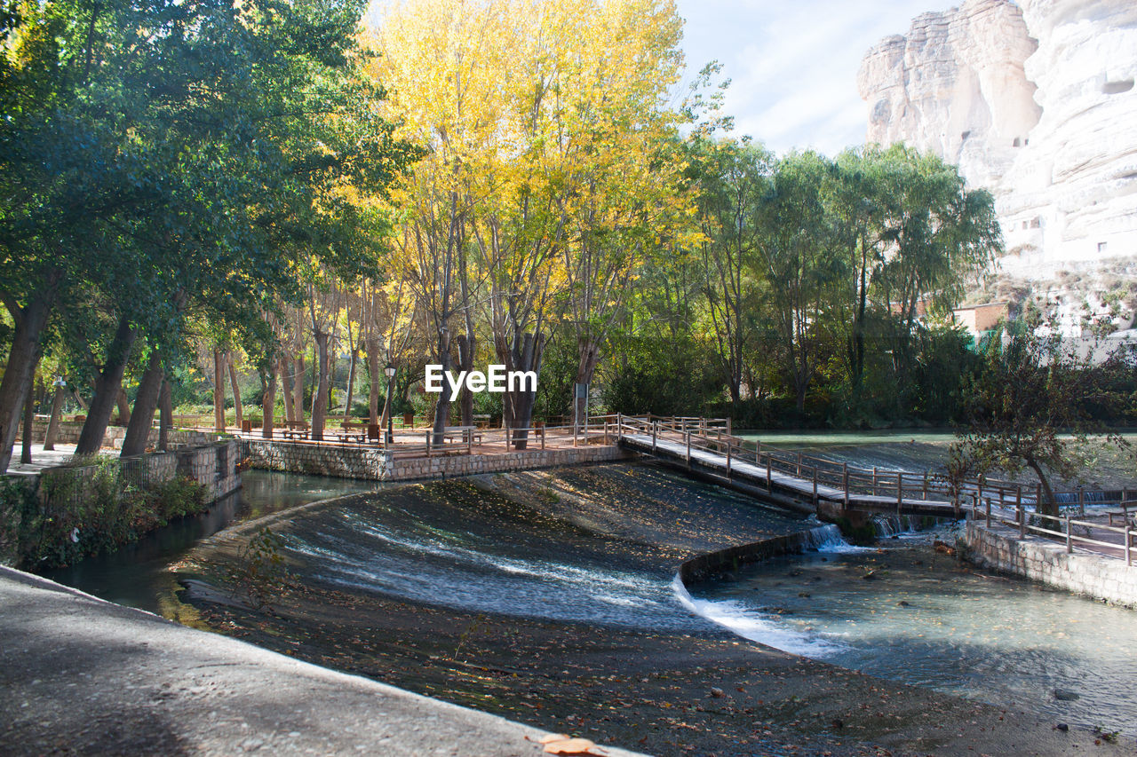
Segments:
[[[52,283],[42,294],[11,314],[16,328],[8,350],[8,366],[0,381],[0,473],[8,469],[11,460],[19,416],[27,393],[32,391],[32,378],[40,359],[40,336],[48,323],[56,289],[57,284]]]

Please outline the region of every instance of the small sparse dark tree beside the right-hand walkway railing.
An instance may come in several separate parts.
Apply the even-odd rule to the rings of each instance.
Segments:
[[[1128,446],[1087,413],[1103,398],[1089,357],[1056,336],[1038,336],[1023,324],[991,336],[982,368],[966,388],[964,423],[951,448],[956,477],[1029,468],[1043,498],[1038,511],[1057,516],[1049,474],[1072,479],[1087,461],[1090,434]],[[1135,366],[1131,360],[1129,369]]]

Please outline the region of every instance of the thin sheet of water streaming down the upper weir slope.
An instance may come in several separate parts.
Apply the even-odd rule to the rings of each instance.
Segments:
[[[702,624],[671,587],[683,557],[811,525],[659,468],[616,465],[396,488],[272,527],[306,582],[463,612],[673,631]],[[675,557],[661,558],[661,544]]]

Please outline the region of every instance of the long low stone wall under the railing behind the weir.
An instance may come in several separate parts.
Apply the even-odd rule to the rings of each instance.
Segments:
[[[632,457],[614,444],[498,455],[440,455],[429,458],[397,457],[373,447],[306,444],[268,439],[244,439],[240,444],[241,457],[251,468],[371,481],[448,479],[478,473],[608,463]]]

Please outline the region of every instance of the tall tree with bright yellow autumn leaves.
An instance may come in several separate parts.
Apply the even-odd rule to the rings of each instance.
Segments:
[[[591,380],[637,271],[689,214],[671,152],[680,33],[674,5],[659,0],[387,8],[375,75],[400,135],[429,151],[395,198],[397,259],[438,333],[439,363],[453,363],[451,328],[463,332],[460,361],[472,360],[484,302],[509,369],[539,373],[561,318],[575,330],[578,381]],[[533,400],[505,398],[517,446]],[[439,433],[448,409],[439,402]]]

